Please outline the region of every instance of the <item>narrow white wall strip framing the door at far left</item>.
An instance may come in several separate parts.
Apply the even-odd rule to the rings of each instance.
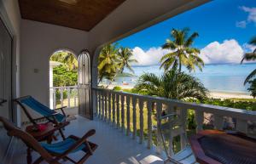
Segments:
[[[17,0],[1,0],[0,14],[14,37],[13,42],[13,96],[20,96],[20,8]],[[20,110],[14,110],[15,122],[20,125]]]

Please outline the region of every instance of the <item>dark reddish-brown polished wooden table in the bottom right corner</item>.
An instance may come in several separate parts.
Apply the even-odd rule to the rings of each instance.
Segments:
[[[201,131],[189,138],[196,161],[202,164],[254,164],[256,139],[242,133]]]

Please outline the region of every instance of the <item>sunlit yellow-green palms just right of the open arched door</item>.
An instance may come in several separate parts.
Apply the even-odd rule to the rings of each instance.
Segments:
[[[131,68],[132,51],[130,48],[118,48],[117,44],[108,44],[102,48],[98,58],[98,75],[99,81],[103,78],[113,81],[114,77],[124,72],[125,67],[133,72]]]

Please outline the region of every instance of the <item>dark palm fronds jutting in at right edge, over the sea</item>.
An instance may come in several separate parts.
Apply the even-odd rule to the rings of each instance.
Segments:
[[[253,37],[251,39],[251,41],[249,42],[249,44],[252,44],[252,45],[255,45],[256,46],[256,37]],[[256,48],[253,50],[253,53],[247,53],[247,54],[244,54],[243,58],[241,59],[241,63],[244,61],[244,60],[247,60],[247,61],[253,61],[256,59]],[[253,70],[246,78],[246,80],[244,81],[244,85],[251,81],[253,79],[253,77],[256,75],[256,69]]]

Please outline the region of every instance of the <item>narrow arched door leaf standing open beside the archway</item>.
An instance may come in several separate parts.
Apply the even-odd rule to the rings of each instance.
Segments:
[[[79,115],[92,119],[90,54],[83,50],[79,54]]]

